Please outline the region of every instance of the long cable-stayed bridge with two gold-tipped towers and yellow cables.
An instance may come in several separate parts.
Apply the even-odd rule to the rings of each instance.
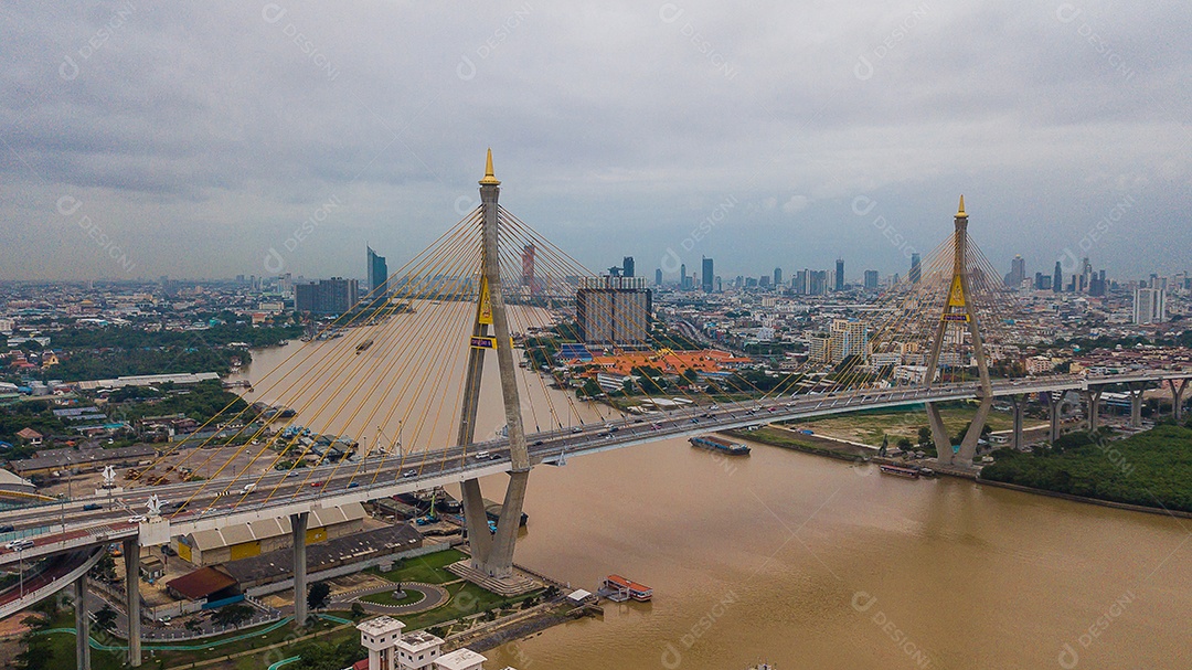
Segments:
[[[0,565],[19,570],[49,560],[33,589],[0,594],[0,615],[68,584],[85,589],[80,575],[111,542],[124,544],[126,573],[137,575],[142,545],[285,517],[293,533],[302,625],[310,514],[446,484],[462,491],[471,559],[461,570],[514,583],[521,508],[529,473],[540,464],[709,430],[923,404],[939,463],[967,467],[997,397],[1013,401],[1019,443],[1020,401],[1028,395],[1050,398],[1055,439],[1067,391],[1086,398],[1095,424],[1100,393],[1123,385],[1137,423],[1143,389],[1169,385],[1178,411],[1182,385],[1175,381],[1192,377],[1184,371],[994,377],[991,362],[1013,352],[1013,297],[969,238],[963,198],[952,235],[888,292],[873,318],[842,321],[813,337],[797,370],[716,371],[697,354],[682,359],[689,367],[681,370],[668,352],[701,347],[653,322],[640,283],[595,277],[497,204],[491,154],[485,172],[473,212],[393,273],[386,290],[324,323],[254,383],[253,398],[285,403],[296,410],[294,422],[334,439],[313,439],[277,415],[253,418],[244,403],[232,403],[203,427],[212,436],[198,448],[166,447],[119,494],[13,511],[14,522],[46,532],[0,548]],[[628,304],[619,309],[617,300]],[[572,323],[578,312],[584,318]],[[564,343],[594,337],[607,337],[600,348],[609,355],[559,365]],[[595,379],[619,352],[635,354],[637,364],[617,377],[621,389],[603,389],[611,396],[607,402],[591,399],[601,390]],[[496,374],[485,374],[493,365]],[[956,401],[976,401],[979,408],[960,445],[938,411],[940,403]],[[495,427],[501,434],[485,439]],[[186,480],[184,473],[195,470],[212,474]],[[480,479],[496,474],[509,483],[490,533]],[[172,476],[182,480],[170,482]],[[86,509],[97,502],[103,509]],[[137,579],[126,583],[130,663],[137,665]]]

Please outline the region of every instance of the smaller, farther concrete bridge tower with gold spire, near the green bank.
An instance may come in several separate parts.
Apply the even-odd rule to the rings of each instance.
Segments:
[[[927,372],[925,384],[931,387],[936,381],[939,368],[939,352],[944,339],[952,328],[968,330],[973,346],[973,354],[976,358],[977,372],[981,377],[981,386],[977,391],[977,410],[973,417],[973,423],[961,440],[956,451],[952,448],[951,436],[944,427],[943,417],[936,403],[927,403],[927,421],[931,424],[931,438],[936,443],[936,452],[940,465],[971,465],[973,457],[976,455],[976,442],[981,438],[985,421],[989,416],[993,407],[993,386],[989,381],[989,365],[985,358],[985,346],[981,341],[981,323],[977,318],[976,306],[969,299],[970,291],[968,268],[968,213],[964,211],[964,196],[961,196],[961,204],[955,218],[956,231],[952,235],[952,278],[949,284],[948,299],[944,302],[939,323],[936,327],[936,337],[931,342],[931,355],[927,358]],[[963,336],[963,335],[962,335]]]

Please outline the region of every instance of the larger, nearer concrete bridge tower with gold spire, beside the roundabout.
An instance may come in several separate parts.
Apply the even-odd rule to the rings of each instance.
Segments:
[[[497,197],[501,182],[492,172],[492,149],[489,149],[484,179],[480,180],[480,213],[483,216],[483,249],[480,267],[480,291],[472,327],[476,337],[496,340],[497,373],[501,377],[501,395],[505,410],[509,434],[509,484],[505,489],[504,507],[497,522],[496,534],[489,533],[484,498],[480,496],[479,479],[464,482],[464,516],[472,551],[471,569],[489,577],[513,577],[514,544],[521,522],[522,504],[526,500],[526,483],[529,478],[529,453],[526,449],[526,432],[522,428],[521,401],[517,397],[513,342],[509,336],[509,320],[505,314],[504,294],[501,287],[501,263],[497,255]],[[491,328],[491,333],[490,333]],[[483,340],[491,341],[491,340]],[[467,359],[467,378],[464,383],[464,405],[460,412],[459,445],[471,445],[476,438],[476,415],[480,399],[480,378],[484,373],[486,348],[473,346]]]

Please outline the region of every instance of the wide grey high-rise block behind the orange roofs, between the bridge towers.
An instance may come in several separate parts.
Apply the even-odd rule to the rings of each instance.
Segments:
[[[645,278],[584,278],[576,291],[576,324],[588,345],[644,346],[652,311]]]

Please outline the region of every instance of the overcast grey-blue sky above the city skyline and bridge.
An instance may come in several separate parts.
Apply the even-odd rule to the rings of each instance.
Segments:
[[[905,273],[963,193],[1001,272],[1192,269],[1186,2],[5,0],[0,54],[0,279],[395,269],[488,147],[590,268]]]

